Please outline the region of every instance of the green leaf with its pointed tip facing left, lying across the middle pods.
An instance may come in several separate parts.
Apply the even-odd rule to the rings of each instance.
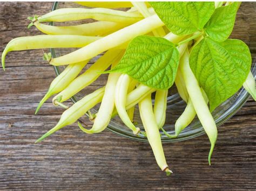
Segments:
[[[125,73],[146,86],[168,89],[175,80],[178,64],[179,51],[173,43],[160,37],[138,36],[109,72]]]

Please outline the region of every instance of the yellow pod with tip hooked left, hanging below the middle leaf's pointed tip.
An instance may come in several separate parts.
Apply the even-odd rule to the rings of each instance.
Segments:
[[[123,54],[122,54],[123,55]],[[117,65],[119,60],[115,60],[112,63],[112,68]],[[100,104],[98,113],[96,115],[93,126],[90,130],[83,128],[82,125],[78,124],[79,128],[88,134],[99,133],[106,129],[109,125],[111,114],[114,109],[114,90],[116,89],[116,84],[120,74],[119,73],[110,73],[107,78],[107,83],[105,87],[105,93]]]

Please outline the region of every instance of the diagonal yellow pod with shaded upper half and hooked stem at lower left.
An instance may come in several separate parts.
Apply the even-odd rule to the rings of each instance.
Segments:
[[[120,49],[112,49],[110,51],[107,51],[82,75],[78,76],[69,84],[69,86],[62,90],[58,95],[53,97],[52,103],[55,104],[55,100],[59,100],[59,102],[64,102],[73,95],[77,94],[86,86],[89,86],[100,76],[100,72],[104,72],[104,70],[107,69],[111,65],[111,63],[119,61],[122,58],[123,53],[124,50]]]

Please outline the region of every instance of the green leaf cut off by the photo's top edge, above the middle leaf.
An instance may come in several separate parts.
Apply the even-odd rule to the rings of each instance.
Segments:
[[[177,35],[202,30],[211,18],[214,2],[150,2],[167,28]]]

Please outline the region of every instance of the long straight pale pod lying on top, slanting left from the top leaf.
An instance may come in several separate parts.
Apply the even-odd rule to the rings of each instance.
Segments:
[[[103,37],[102,39],[99,39],[83,48],[80,48],[77,51],[58,58],[53,58],[51,59],[50,64],[59,66],[89,60],[108,49],[117,47],[123,43],[126,43],[127,41],[132,40],[134,37],[137,37],[140,34],[149,33],[163,25],[164,23],[157,15],[147,17],[130,26],[126,26],[117,32],[109,34],[108,36]]]

